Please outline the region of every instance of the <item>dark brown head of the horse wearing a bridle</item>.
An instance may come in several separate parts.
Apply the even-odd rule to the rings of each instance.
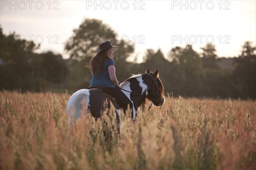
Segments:
[[[158,77],[158,69],[155,72],[150,72],[150,69],[146,70],[146,73],[143,76],[148,84],[148,97],[153,102],[155,106],[162,106],[165,97],[164,97],[164,88],[162,81]]]

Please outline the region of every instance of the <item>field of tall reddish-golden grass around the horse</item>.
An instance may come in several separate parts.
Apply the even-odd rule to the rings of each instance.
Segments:
[[[70,96],[0,93],[0,169],[256,169],[256,101],[167,97],[118,134],[113,109],[68,128]]]

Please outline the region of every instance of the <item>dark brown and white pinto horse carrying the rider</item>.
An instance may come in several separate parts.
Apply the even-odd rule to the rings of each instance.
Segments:
[[[138,107],[145,104],[146,98],[152,101],[155,106],[162,106],[165,101],[164,88],[162,81],[158,77],[158,69],[154,73],[150,72],[150,69],[147,69],[145,74],[133,75],[120,84],[120,86],[122,86],[123,92],[134,104],[133,115],[131,115],[133,120],[135,120]],[[104,112],[105,109],[110,109],[110,101],[105,95],[105,92],[100,89],[80,89],[67,102],[69,125],[72,123],[70,116],[73,116],[73,121],[80,118],[83,100],[86,102],[85,113],[90,109],[91,115],[96,119],[101,117],[101,112]],[[120,107],[118,106],[115,109],[118,129],[120,123],[119,109]]]

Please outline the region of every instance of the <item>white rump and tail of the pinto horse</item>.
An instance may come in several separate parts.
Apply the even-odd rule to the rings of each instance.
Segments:
[[[73,121],[76,121],[77,118],[80,118],[83,105],[85,114],[87,113],[89,96],[90,92],[88,89],[80,89],[70,97],[67,102],[68,125],[71,125]]]

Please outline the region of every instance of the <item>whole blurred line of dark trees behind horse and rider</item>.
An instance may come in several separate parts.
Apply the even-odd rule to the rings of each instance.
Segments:
[[[176,46],[167,56],[161,49],[147,49],[143,63],[128,62],[134,43],[118,40],[117,33],[101,20],[85,19],[65,43],[70,55],[64,60],[53,52],[36,53],[40,44],[15,39],[15,32],[3,34],[0,27],[0,90],[21,92],[69,92],[87,88],[92,77],[87,67],[90,58],[104,40],[118,46],[113,54],[116,76],[125,81],[131,74],[144,73],[147,68],[160,69],[166,95],[175,97],[252,98],[256,99],[256,47],[250,42],[241,46],[241,54],[219,58],[213,44],[202,47],[202,53],[188,44]]]

